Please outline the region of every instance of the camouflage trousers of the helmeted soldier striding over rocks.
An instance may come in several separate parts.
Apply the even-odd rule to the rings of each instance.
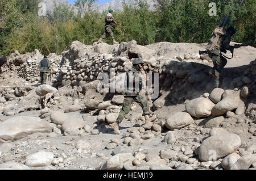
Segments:
[[[148,115],[149,114],[147,100],[143,96],[137,95],[137,96],[133,96],[133,97],[132,96],[125,97],[125,100],[123,100],[122,110],[120,111],[120,113],[117,117],[118,124],[121,123],[123,118],[125,117],[125,115],[127,113],[129,113],[130,108],[131,108],[131,104],[134,101],[141,105],[142,110],[143,110],[143,115]]]

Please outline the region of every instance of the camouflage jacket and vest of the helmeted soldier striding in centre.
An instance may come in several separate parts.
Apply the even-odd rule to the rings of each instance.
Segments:
[[[126,72],[124,96],[137,96],[146,83],[146,74],[135,68]]]

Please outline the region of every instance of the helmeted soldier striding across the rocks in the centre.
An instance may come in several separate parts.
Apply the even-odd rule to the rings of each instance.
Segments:
[[[118,115],[117,121],[111,124],[112,128],[117,134],[120,134],[118,125],[122,122],[125,115],[129,113],[131,104],[134,101],[138,102],[141,105],[146,123],[156,119],[156,116],[149,118],[149,115],[152,112],[148,107],[148,102],[142,95],[139,95],[139,92],[141,92],[142,90],[142,86],[144,87],[143,81],[146,78],[146,74],[144,73],[142,67],[143,64],[144,62],[141,58],[135,58],[135,60],[133,61],[133,68],[126,72],[125,91],[123,92],[125,100],[123,100],[123,107]],[[137,91],[138,87],[135,87],[134,85],[139,85],[139,91]]]

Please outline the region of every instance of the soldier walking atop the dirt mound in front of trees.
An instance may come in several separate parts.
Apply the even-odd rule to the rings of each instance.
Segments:
[[[117,24],[117,22],[115,22],[115,20],[113,19],[113,10],[109,10],[109,13],[106,15],[105,18],[105,32],[103,33],[102,37],[100,38],[100,40],[98,40],[99,43],[103,43],[102,39],[106,38],[106,35],[109,35],[111,37],[111,39],[113,40],[113,44],[118,44],[117,41],[115,41],[114,38],[114,34],[111,30],[113,24]]]

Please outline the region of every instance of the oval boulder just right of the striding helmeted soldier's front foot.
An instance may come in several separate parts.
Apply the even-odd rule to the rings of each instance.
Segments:
[[[166,127],[168,129],[180,129],[193,123],[191,115],[187,112],[177,112],[167,118]]]

